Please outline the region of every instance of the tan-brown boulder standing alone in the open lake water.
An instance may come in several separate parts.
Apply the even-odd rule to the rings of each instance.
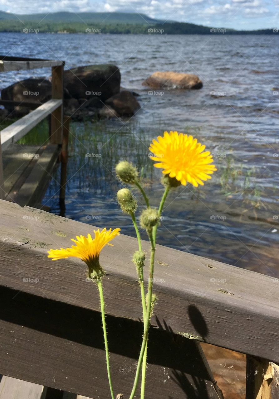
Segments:
[[[142,84],[154,89],[201,89],[203,86],[197,75],[173,71],[152,73]]]

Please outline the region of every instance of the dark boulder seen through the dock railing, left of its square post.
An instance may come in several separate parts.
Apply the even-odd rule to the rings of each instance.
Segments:
[[[44,78],[25,79],[2,89],[1,98],[2,100],[28,101],[41,105],[51,98],[51,83]],[[27,114],[30,110],[27,107],[10,105],[5,105],[5,108],[10,113],[14,112],[18,115]]]

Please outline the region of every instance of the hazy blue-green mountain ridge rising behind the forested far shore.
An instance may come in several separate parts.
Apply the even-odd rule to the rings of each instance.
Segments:
[[[44,14],[11,14],[0,11],[0,21],[20,20],[23,22],[86,22],[86,24],[161,24],[163,20],[156,20],[145,14],[136,12],[53,12]]]

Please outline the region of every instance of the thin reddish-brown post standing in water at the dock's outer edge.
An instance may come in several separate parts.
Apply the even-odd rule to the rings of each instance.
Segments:
[[[70,117],[64,116],[63,141],[61,148],[61,179],[60,179],[60,216],[65,216],[65,192],[67,180],[67,162],[68,162],[68,141],[69,141]]]

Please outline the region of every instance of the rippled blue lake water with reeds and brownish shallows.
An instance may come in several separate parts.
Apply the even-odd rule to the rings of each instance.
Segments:
[[[163,130],[187,131],[215,154],[218,171],[204,188],[170,195],[159,243],[279,277],[279,36],[9,33],[0,41],[3,54],[60,58],[67,68],[114,63],[122,87],[140,94],[141,110],[131,119],[73,124],[67,217],[134,235],[115,200],[114,163],[128,158],[145,166],[156,205],[160,172],[148,144]],[[141,83],[157,70],[195,73],[203,88],[149,94]],[[48,74],[13,71],[1,76],[1,85]],[[86,158],[96,151],[101,158]],[[57,180],[59,171],[44,203],[59,213]]]

